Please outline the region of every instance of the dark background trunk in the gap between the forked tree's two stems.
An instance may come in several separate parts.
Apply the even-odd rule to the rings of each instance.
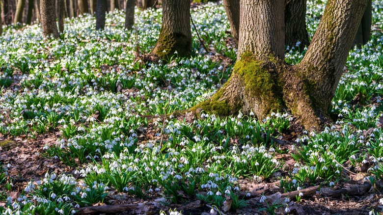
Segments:
[[[286,0],[285,8],[285,45],[295,46],[301,42],[301,48],[308,46],[306,29],[306,0]]]

